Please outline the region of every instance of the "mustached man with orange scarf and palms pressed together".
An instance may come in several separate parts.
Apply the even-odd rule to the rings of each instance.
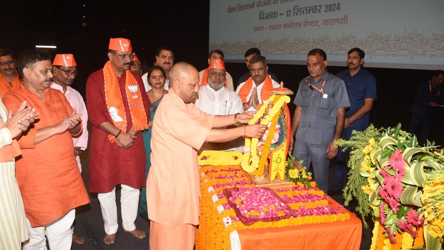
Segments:
[[[279,84],[268,74],[267,59],[256,55],[250,59],[250,78],[238,86],[236,93],[241,97],[245,111],[257,111],[272,96],[270,91]]]

